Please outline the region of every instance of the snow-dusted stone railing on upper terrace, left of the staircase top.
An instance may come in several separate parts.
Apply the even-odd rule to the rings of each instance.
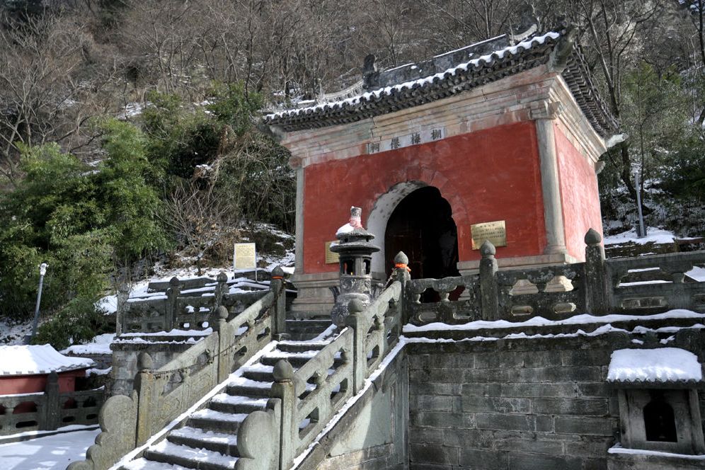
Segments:
[[[215,311],[221,305],[228,308],[229,319],[246,306],[263,297],[267,290],[229,294],[228,277],[220,273],[215,282],[203,287],[183,289],[183,282],[173,277],[163,294],[127,299],[127,292],[118,294],[117,333],[154,333],[183,330],[204,330],[217,323]]]

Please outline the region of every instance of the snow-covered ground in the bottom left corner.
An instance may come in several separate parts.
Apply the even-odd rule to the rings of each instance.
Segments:
[[[86,457],[100,429],[63,432],[0,445],[0,462],[8,470],[63,470]]]

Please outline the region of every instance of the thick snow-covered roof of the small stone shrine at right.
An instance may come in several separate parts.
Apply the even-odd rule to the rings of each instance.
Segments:
[[[698,357],[680,348],[620,349],[612,352],[607,382],[701,382]]]

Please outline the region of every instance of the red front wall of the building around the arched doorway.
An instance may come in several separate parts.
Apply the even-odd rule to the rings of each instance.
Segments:
[[[396,183],[414,180],[435,186],[450,203],[461,261],[480,258],[471,249],[470,225],[495,220],[505,220],[507,227],[508,246],[497,248],[498,258],[543,253],[546,229],[536,127],[518,122],[306,167],[304,273],[338,269],[325,264],[324,243],[335,240],[350,206],[362,207],[366,225],[380,195]]]

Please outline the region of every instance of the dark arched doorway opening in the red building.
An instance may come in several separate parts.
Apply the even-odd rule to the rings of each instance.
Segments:
[[[414,190],[391,212],[384,231],[387,275],[399,251],[408,256],[413,278],[459,275],[457,227],[437,188]]]

